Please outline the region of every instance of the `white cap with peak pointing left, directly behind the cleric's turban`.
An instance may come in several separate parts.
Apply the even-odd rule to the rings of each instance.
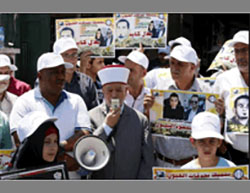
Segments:
[[[145,54],[142,52],[139,52],[138,50],[134,50],[129,53],[128,56],[119,56],[118,60],[122,63],[125,63],[125,61],[129,59],[132,62],[141,65],[146,70],[148,69],[149,61]]]

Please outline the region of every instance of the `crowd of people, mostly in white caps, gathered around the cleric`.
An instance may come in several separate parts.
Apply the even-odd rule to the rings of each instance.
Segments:
[[[152,61],[143,47],[119,56],[120,64],[105,65],[103,58],[90,57],[91,52],[79,54],[72,37],[61,37],[53,52],[37,59],[33,89],[13,76],[17,67],[1,54],[0,148],[16,149],[4,170],[65,162],[69,179],[127,180],[152,179],[154,166],[193,169],[249,164],[248,144],[241,146],[239,134],[248,135],[248,45],[249,31],[232,37],[237,66],[218,75],[212,86],[199,78],[201,59],[185,37],[169,41],[170,49],[159,49],[164,56],[161,63],[153,64],[158,68],[150,71]],[[156,101],[151,89],[173,91],[164,99],[163,118],[191,122],[189,139],[153,136],[150,110]],[[204,112],[195,94],[186,110],[174,91],[218,94],[216,112]],[[231,124],[246,129],[241,132]],[[74,145],[88,135],[104,140],[110,151],[107,165],[97,171],[80,167],[74,157]]]

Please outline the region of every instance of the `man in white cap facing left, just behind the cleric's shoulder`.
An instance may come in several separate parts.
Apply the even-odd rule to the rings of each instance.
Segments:
[[[138,50],[130,52],[128,56],[120,56],[118,60],[130,70],[125,103],[143,113],[144,96],[150,93],[150,90],[144,87],[143,82],[143,77],[147,74],[149,60],[144,53]]]

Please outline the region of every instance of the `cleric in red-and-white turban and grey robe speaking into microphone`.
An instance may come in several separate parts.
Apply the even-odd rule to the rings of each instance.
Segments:
[[[98,72],[104,103],[89,111],[93,134],[107,142],[108,164],[93,179],[151,179],[153,147],[147,118],[124,104],[129,70],[110,65]]]

